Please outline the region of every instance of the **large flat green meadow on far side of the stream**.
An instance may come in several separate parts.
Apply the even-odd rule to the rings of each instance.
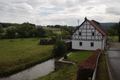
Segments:
[[[38,45],[40,38],[0,40],[0,76],[15,72],[53,56],[53,45]]]

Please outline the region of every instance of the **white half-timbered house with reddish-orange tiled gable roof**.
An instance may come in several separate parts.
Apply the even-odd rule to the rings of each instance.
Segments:
[[[73,50],[104,49],[106,42],[106,30],[102,28],[99,22],[87,18],[72,34]]]

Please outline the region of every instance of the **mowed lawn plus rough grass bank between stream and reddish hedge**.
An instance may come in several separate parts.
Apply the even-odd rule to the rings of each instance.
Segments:
[[[76,80],[77,70],[79,65],[93,54],[93,51],[79,51],[74,52],[68,56],[70,60],[79,61],[77,65],[66,66],[63,69],[52,72],[46,76],[40,77],[36,80]],[[77,59],[76,59],[77,58]]]

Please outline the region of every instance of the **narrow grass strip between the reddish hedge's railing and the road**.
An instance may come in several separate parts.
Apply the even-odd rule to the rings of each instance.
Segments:
[[[104,54],[101,54],[99,58],[96,80],[109,80]]]

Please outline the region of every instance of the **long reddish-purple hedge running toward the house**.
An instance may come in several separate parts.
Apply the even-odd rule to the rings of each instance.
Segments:
[[[88,80],[93,75],[99,53],[100,49],[97,49],[92,56],[80,65],[77,72],[77,80]]]

